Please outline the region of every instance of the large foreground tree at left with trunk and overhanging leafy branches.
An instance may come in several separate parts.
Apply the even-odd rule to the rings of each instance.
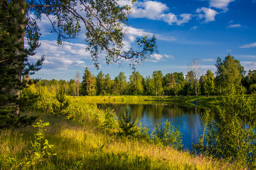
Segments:
[[[4,82],[11,84],[8,85],[10,88],[1,88],[1,94],[12,99],[8,103],[1,103],[1,107],[11,105],[15,116],[18,115],[16,100],[19,99],[22,85],[19,83],[20,76],[33,74],[42,65],[43,57],[35,65],[28,62],[28,56],[35,54],[34,50],[40,45],[40,28],[36,19],[41,19],[42,15],[47,16],[60,45],[63,40],[75,39],[81,28],[85,30],[86,50],[90,52],[96,67],[99,65],[98,54],[105,50],[106,63],[121,63],[122,59],[130,59],[130,66],[134,68],[153,54],[157,46],[154,36],[151,39],[144,36],[137,39],[138,51],[133,48],[123,50],[123,28],[127,25],[126,15],[130,12],[130,6],[120,6],[117,0],[1,0],[0,52],[4,56],[0,59],[1,79],[8,80],[1,82],[1,87],[6,86]],[[24,49],[24,37],[28,49]]]

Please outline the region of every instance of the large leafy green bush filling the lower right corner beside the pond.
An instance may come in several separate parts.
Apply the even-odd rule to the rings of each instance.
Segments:
[[[193,146],[195,151],[255,168],[255,111],[255,95],[245,96],[243,88],[232,87],[216,107],[218,122],[210,120],[209,112],[204,115],[205,133]]]

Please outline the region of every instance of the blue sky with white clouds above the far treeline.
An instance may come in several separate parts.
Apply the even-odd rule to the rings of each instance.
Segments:
[[[131,4],[127,0],[121,5]],[[129,15],[125,46],[133,46],[136,37],[156,36],[158,53],[137,67],[144,77],[153,71],[187,74],[191,59],[201,61],[201,73],[209,69],[216,71],[217,57],[223,60],[228,54],[238,59],[246,71],[256,70],[256,0],[180,0],[137,1]],[[40,56],[46,59],[40,71],[32,78],[70,80],[77,71],[84,74],[85,67],[95,76],[102,71],[114,79],[121,71],[127,79],[133,70],[129,62],[122,65],[106,65],[105,54],[100,54],[100,69],[93,65],[85,52],[85,35],[57,44],[57,36],[51,33],[51,23],[46,17],[38,22],[41,46],[35,62]]]

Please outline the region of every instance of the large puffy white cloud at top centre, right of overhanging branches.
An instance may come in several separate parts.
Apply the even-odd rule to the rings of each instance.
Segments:
[[[188,23],[192,18],[192,14],[175,15],[171,12],[164,13],[168,10],[166,4],[156,1],[135,2],[132,8],[131,16],[134,18],[148,18],[152,20],[162,20],[170,25],[181,25]]]

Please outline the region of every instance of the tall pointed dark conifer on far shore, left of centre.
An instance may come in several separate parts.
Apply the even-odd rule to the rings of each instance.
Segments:
[[[81,86],[81,95],[94,96],[96,95],[96,80],[92,73],[88,70],[88,67],[85,68],[84,76],[82,76],[82,86]]]

